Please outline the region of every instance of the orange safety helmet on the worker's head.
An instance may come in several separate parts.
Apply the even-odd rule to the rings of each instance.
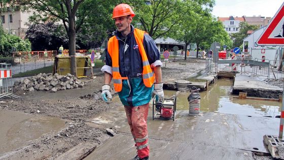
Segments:
[[[119,4],[114,8],[113,11],[113,19],[117,17],[127,16],[130,15],[131,17],[134,17],[135,14],[131,7],[127,4]]]

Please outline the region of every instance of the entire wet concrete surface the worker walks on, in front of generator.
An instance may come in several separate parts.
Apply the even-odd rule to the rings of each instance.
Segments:
[[[104,129],[115,127],[120,132],[117,141],[108,142],[110,143],[108,147],[114,145],[112,149],[104,148],[104,145],[108,145],[106,143],[94,151],[95,155],[108,155],[109,157],[104,157],[107,159],[115,155],[121,159],[130,159],[135,156],[134,142],[122,107],[108,114],[102,114],[98,118],[90,119],[90,121],[94,121],[90,122],[90,125]],[[269,152],[263,144],[263,136],[277,135],[279,123],[279,118],[214,112],[206,112],[201,116],[193,117],[188,115],[188,111],[177,111],[174,121],[171,119],[153,120],[152,107],[150,107],[148,131],[151,155],[154,159],[184,159],[190,156],[193,156],[192,159],[246,159],[247,152],[244,153],[243,150]],[[124,139],[121,134],[128,135],[129,138]],[[173,146],[178,149],[174,149]],[[165,149],[169,150],[165,151]],[[207,149],[208,152],[206,152]],[[186,150],[192,151],[191,154],[188,154]],[[128,153],[131,156],[128,156]],[[203,155],[204,153],[206,154]],[[164,154],[166,156],[163,156]],[[245,157],[242,157],[244,155]],[[198,158],[198,156],[201,157]],[[96,158],[100,159],[100,157]]]

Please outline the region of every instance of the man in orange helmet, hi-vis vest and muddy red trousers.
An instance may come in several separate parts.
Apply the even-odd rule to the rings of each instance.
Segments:
[[[114,8],[112,18],[117,30],[108,42],[105,65],[101,68],[104,72],[101,95],[105,102],[110,101],[113,78],[137,149],[134,159],[149,159],[147,116],[151,98],[154,95],[158,101],[164,98],[162,62],[154,40],[130,24],[134,16],[127,4]]]

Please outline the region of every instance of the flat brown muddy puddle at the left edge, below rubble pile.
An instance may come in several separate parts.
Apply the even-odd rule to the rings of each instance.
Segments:
[[[44,134],[58,132],[64,126],[65,121],[57,117],[0,110],[0,155]]]

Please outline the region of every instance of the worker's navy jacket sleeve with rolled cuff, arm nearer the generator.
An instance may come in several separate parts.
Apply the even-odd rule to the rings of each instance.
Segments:
[[[155,68],[157,66],[162,66],[162,62],[160,60],[160,52],[155,41],[148,35],[144,35],[143,45],[148,57],[148,61],[151,65],[151,68]]]

